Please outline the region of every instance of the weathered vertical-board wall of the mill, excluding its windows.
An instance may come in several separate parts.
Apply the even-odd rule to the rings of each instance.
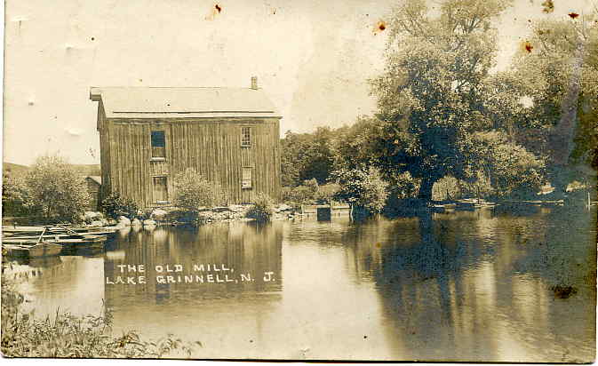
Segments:
[[[101,106],[101,105],[100,105]],[[99,111],[100,112],[100,111]],[[103,115],[103,111],[102,115]],[[280,199],[279,122],[269,119],[119,120],[100,123],[102,183],[143,207],[156,206],[153,177],[172,180],[187,168],[218,181],[228,203],[251,203],[258,192]],[[241,146],[241,128],[251,127],[251,147]],[[151,131],[163,130],[166,157],[151,157]],[[252,167],[252,187],[242,189],[243,167]],[[106,179],[104,176],[108,175]]]

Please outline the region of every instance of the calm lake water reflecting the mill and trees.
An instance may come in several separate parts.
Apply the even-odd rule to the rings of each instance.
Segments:
[[[117,333],[199,340],[199,358],[590,361],[595,222],[537,208],[159,227],[5,273],[40,316],[100,314],[103,299]]]

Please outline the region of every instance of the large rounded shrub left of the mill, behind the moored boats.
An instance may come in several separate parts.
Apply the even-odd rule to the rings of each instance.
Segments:
[[[46,222],[76,222],[91,203],[84,179],[57,155],[38,157],[24,183],[28,211]]]

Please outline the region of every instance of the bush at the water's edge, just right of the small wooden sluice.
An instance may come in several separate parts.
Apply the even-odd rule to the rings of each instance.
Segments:
[[[332,176],[339,184],[335,200],[347,202],[358,211],[369,214],[382,211],[387,203],[388,183],[376,168],[340,169]]]

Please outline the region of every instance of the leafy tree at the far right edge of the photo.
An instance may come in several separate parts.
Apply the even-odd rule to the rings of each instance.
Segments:
[[[547,157],[554,187],[563,192],[572,179],[595,177],[598,9],[538,21],[529,47],[517,56],[515,71],[532,102],[522,122],[541,137],[534,148]]]

